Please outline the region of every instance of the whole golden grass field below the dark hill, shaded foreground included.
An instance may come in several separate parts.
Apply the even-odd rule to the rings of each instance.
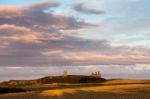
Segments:
[[[150,81],[146,80],[109,80],[95,85],[46,84],[45,87],[38,91],[1,94],[0,99],[150,99]]]

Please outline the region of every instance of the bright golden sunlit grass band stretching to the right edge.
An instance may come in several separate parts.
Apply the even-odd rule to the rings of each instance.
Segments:
[[[141,89],[141,88],[142,89],[146,89],[146,88],[150,89],[150,85],[134,84],[134,85],[114,85],[114,86],[96,86],[96,87],[56,89],[56,90],[43,91],[41,93],[41,95],[43,95],[43,96],[61,96],[65,93],[75,94],[78,91],[125,94],[125,93],[133,93],[133,92],[130,92],[130,90],[136,90],[136,89]]]

